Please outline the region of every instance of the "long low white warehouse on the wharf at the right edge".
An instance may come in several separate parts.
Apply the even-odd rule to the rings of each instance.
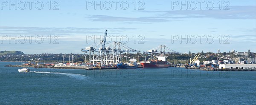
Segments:
[[[220,69],[256,69],[256,64],[220,64]]]

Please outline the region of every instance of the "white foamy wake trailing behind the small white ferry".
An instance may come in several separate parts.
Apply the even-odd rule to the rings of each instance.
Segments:
[[[30,71],[29,73],[44,73],[44,74],[61,74],[61,75],[66,75],[68,77],[74,78],[74,79],[79,79],[79,80],[84,80],[84,79],[89,79],[90,77],[87,77],[82,74],[72,74],[72,73],[57,73],[57,72],[46,72],[46,71]]]

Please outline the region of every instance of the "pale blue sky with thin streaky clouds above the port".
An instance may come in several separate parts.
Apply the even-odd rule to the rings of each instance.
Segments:
[[[0,0],[0,51],[76,53],[107,44],[137,51],[256,52],[255,0]]]

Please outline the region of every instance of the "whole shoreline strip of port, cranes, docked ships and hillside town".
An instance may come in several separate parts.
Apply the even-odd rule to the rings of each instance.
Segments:
[[[181,53],[167,45],[159,45],[147,51],[140,51],[123,42],[106,43],[107,37],[108,30],[105,30],[101,41],[81,48],[84,54],[24,54],[21,51],[1,51],[0,60],[20,62],[18,65],[6,65],[9,67],[88,70],[184,67],[208,71],[256,71],[256,53],[250,49],[244,52],[233,49],[221,53],[220,49],[217,49],[215,53]]]

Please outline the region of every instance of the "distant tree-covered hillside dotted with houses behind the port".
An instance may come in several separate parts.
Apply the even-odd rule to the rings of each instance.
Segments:
[[[21,51],[1,51],[3,55],[0,55],[1,61],[39,61],[39,62],[62,62],[64,56],[64,62],[72,62],[72,56],[74,56],[74,62],[84,62],[85,58],[86,61],[89,62],[89,55],[88,54],[23,54]],[[9,53],[9,54],[6,54]],[[209,60],[224,60],[224,55],[230,55],[230,57],[241,57],[241,55],[234,55],[234,53],[220,53],[220,54],[214,54],[210,51],[207,53],[204,53],[203,51],[201,53],[191,53],[189,51],[188,54],[166,54],[167,56],[166,60],[168,62],[171,62],[172,64],[185,64],[186,62],[189,62],[190,58],[194,58],[196,54],[200,54],[198,60],[201,62],[203,61],[209,61]],[[248,57],[256,57],[256,53],[249,53]],[[140,60],[139,60],[140,58]],[[126,62],[130,59],[136,59],[137,61],[144,61],[144,60],[150,60],[151,55],[145,54],[145,53],[136,53],[136,54],[122,54],[121,55],[121,61]]]

